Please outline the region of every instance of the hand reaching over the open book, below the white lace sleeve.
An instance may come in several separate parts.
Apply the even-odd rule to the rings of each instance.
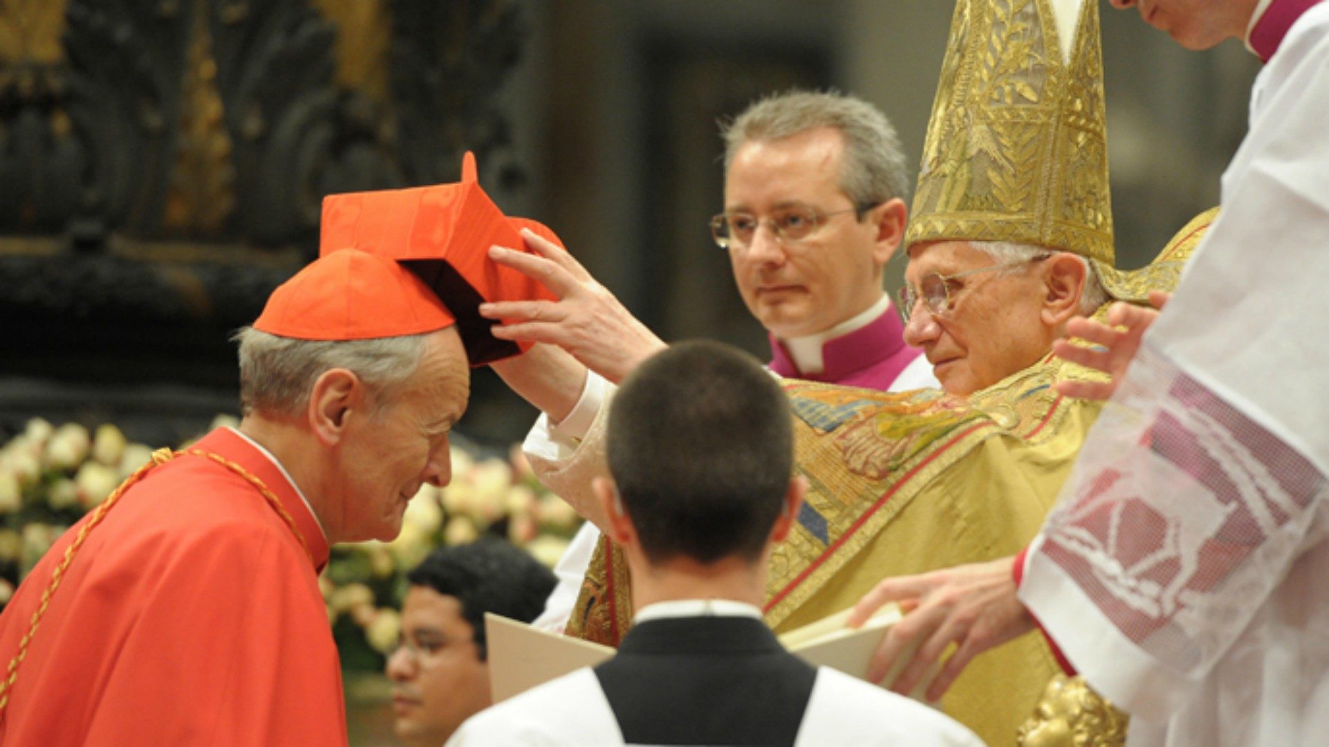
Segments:
[[[956,653],[928,686],[926,698],[938,700],[975,655],[1033,630],[1034,618],[1015,598],[1011,562],[1007,557],[877,584],[853,607],[849,627],[861,626],[886,602],[900,602],[912,611],[882,638],[868,666],[868,681],[880,682],[904,657],[908,663],[890,689],[913,693],[956,643]]]

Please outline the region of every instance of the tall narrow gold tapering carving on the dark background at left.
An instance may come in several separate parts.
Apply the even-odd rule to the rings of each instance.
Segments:
[[[197,0],[185,61],[183,105],[175,167],[162,223],[167,231],[215,234],[235,210],[231,138],[217,90],[217,60],[207,31],[207,1]]]

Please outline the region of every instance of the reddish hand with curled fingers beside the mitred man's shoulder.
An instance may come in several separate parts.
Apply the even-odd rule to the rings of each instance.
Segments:
[[[1084,316],[1076,316],[1067,322],[1066,334],[1069,336],[1079,338],[1094,347],[1082,347],[1067,339],[1061,339],[1053,343],[1053,352],[1071,363],[1102,371],[1111,379],[1107,381],[1058,381],[1057,391],[1069,397],[1111,399],[1116,385],[1126,376],[1126,368],[1135,358],[1135,352],[1140,350],[1144,331],[1158,318],[1156,310],[1162,310],[1168,298],[1171,296],[1166,292],[1151,291],[1150,306],[1154,308],[1122,302],[1114,303],[1107,310],[1107,324]]]

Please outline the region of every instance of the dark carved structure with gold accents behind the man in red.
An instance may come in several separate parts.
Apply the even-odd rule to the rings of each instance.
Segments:
[[[326,194],[456,181],[466,149],[520,185],[493,93],[521,43],[502,0],[0,0],[0,435],[227,401],[227,336]]]

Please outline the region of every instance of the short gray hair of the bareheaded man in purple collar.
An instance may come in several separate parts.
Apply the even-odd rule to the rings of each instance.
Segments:
[[[908,194],[905,154],[890,121],[872,104],[836,90],[768,96],[732,121],[722,121],[724,170],[747,142],[784,140],[817,128],[835,128],[844,136],[840,189],[860,211]]]

